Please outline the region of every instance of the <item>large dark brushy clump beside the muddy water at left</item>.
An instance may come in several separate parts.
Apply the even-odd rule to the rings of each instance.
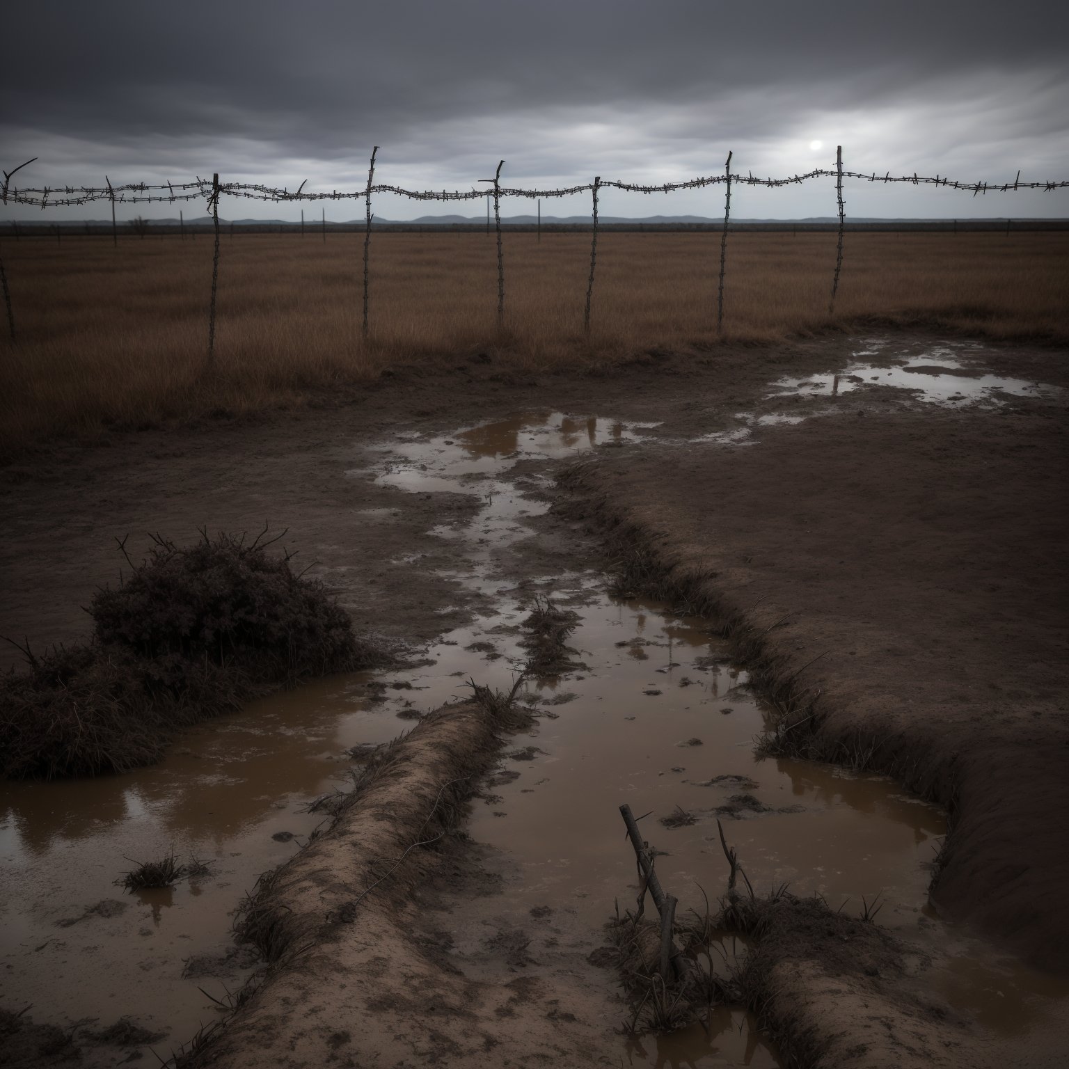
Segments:
[[[385,660],[322,583],[261,539],[204,533],[181,548],[157,536],[122,586],[94,595],[90,644],[24,648],[28,671],[0,676],[0,774],[123,772],[157,760],[177,728]]]

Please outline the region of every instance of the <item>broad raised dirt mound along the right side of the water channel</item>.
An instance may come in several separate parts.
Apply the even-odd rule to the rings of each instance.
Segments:
[[[943,805],[936,904],[1064,972],[1065,431],[1025,403],[981,427],[936,413],[836,423],[770,429],[730,464],[693,449],[670,476],[655,447],[575,465],[569,514],[602,531],[633,586],[719,621],[799,724],[791,753]],[[943,503],[947,453],[960,485]],[[881,482],[873,456],[908,474]],[[717,499],[730,507],[706,507]]]

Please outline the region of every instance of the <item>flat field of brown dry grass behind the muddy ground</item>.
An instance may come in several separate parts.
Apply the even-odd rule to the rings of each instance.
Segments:
[[[583,331],[586,234],[506,234],[505,330],[493,236],[374,234],[371,339],[360,337],[362,235],[222,237],[216,361],[204,373],[212,239],[5,241],[18,329],[0,342],[0,450],[48,434],[300,404],[398,361],[479,350],[533,369],[651,346],[715,350],[849,328],[930,324],[1069,340],[1069,234],[848,234],[827,315],[834,234],[732,234],[724,335],[719,235],[602,233]]]

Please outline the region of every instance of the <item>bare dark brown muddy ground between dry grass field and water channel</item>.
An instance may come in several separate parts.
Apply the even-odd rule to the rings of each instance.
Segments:
[[[896,335],[892,348],[916,357],[938,341]],[[2,472],[0,634],[33,648],[84,638],[78,606],[118,577],[115,537],[129,533],[136,555],[149,530],[181,540],[201,526],[253,531],[266,522],[288,527],[285,543],[319,562],[358,629],[418,644],[478,607],[478,591],[443,574],[465,570],[463,544],[428,533],[474,515],[476,502],[402,496],[361,477],[374,464],[370,447],[522,412],[660,422],[638,443],[594,450],[570,491],[555,495],[544,537],[518,547],[518,558],[531,555],[531,572],[563,572],[604,559],[615,540],[617,555],[653,549],[693,573],[696,597],[727,616],[748,614],[759,631],[783,620],[761,652],[780,678],[804,669],[805,700],[819,694],[809,744],[854,763],[867,758],[950,808],[934,889],[941,913],[1064,972],[1064,394],[998,393],[997,405],[939,407],[868,381],[834,401],[804,389],[769,398],[773,381],[845,368],[858,347],[857,339],[833,338],[715,355],[656,352],[609,373],[538,378],[482,358],[433,372],[400,368],[374,389],[315,409],[42,448]],[[1060,351],[966,345],[957,356],[1069,386]],[[796,423],[738,418],[828,410]],[[0,656],[17,661],[12,650]],[[456,894],[485,890],[465,886],[472,871],[481,870],[458,866]],[[819,972],[816,936],[806,955],[806,967]],[[593,982],[591,967],[573,967],[569,982]],[[825,1038],[838,1027],[846,981],[828,979],[841,976],[837,967],[807,985],[809,1026],[823,1021],[816,1027]],[[501,981],[512,982],[507,965]],[[859,1005],[865,992],[851,997]],[[543,1016],[556,1021],[552,1013],[549,1006]],[[936,1018],[925,1022],[929,1040]],[[328,1029],[324,1041],[341,1031]],[[337,1040],[339,1056],[351,1038]],[[558,1059],[574,1064],[592,1042],[566,1043]],[[857,1053],[865,1045],[850,1048],[852,1064],[904,1056],[871,1042]],[[436,1051],[448,1057],[448,1044]],[[965,1064],[956,1057],[951,1050],[942,1064]]]

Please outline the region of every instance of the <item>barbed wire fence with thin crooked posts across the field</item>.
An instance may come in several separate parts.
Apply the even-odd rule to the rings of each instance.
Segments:
[[[727,239],[728,222],[731,213],[731,186],[763,186],[765,188],[777,188],[789,185],[802,185],[824,177],[836,180],[836,199],[838,202],[838,238],[836,243],[835,272],[832,278],[832,294],[828,304],[828,315],[834,313],[835,300],[839,289],[839,278],[842,272],[842,247],[843,234],[846,230],[846,205],[842,198],[842,183],[845,179],[852,179],[858,182],[883,183],[889,185],[894,183],[912,183],[915,186],[928,185],[944,189],[955,189],[961,192],[972,192],[973,197],[986,196],[991,192],[1010,192],[1020,189],[1038,189],[1044,192],[1053,192],[1057,189],[1069,187],[1069,181],[1057,182],[1021,182],[1021,172],[1017,172],[1013,182],[988,183],[988,182],[960,182],[936,174],[934,177],[918,175],[916,172],[904,175],[892,175],[889,171],[883,175],[876,171],[865,173],[862,171],[846,171],[842,168],[842,146],[836,149],[835,170],[817,168],[806,171],[803,174],[793,174],[786,177],[757,177],[753,171],[746,174],[733,174],[731,172],[732,153],[728,153],[727,164],[723,174],[714,174],[691,179],[686,182],[668,182],[661,185],[645,185],[633,182],[602,181],[600,176],[594,177],[592,183],[569,186],[560,189],[518,189],[502,187],[500,184],[501,168],[505,166],[502,159],[497,165],[497,170],[493,179],[480,179],[480,182],[493,183],[493,191],[486,192],[481,189],[471,190],[430,190],[430,189],[405,189],[402,186],[389,184],[374,184],[375,157],[378,153],[378,145],[374,146],[371,154],[371,164],[368,169],[368,182],[362,189],[353,191],[330,192],[305,192],[306,182],[303,182],[295,191],[290,191],[289,187],[281,189],[262,185],[260,183],[220,183],[216,173],[211,180],[197,177],[192,182],[180,183],[177,185],[167,182],[159,184],[148,184],[144,182],[129,183],[126,185],[112,185],[111,180],[105,175],[105,186],[43,186],[18,188],[11,186],[11,179],[16,171],[28,167],[34,159],[20,164],[13,171],[3,172],[2,200],[4,204],[25,204],[37,207],[42,212],[48,208],[76,207],[92,204],[96,201],[108,200],[111,204],[111,235],[112,245],[118,248],[119,237],[115,223],[115,204],[174,204],[203,199],[212,213],[215,231],[215,249],[212,264],[212,296],[208,311],[208,348],[207,360],[211,367],[215,355],[215,319],[216,319],[216,296],[219,278],[219,200],[221,197],[232,197],[234,199],[247,199],[258,201],[270,201],[274,203],[304,202],[304,201],[325,201],[325,200],[356,200],[365,201],[365,235],[363,235],[363,322],[362,335],[365,340],[369,338],[369,292],[370,292],[370,248],[371,248],[371,222],[374,218],[371,212],[372,193],[392,193],[398,197],[405,197],[415,201],[469,201],[486,198],[487,212],[490,199],[494,201],[494,219],[497,232],[497,326],[502,329],[505,325],[505,257],[501,245],[501,215],[500,201],[502,197],[528,198],[531,200],[541,198],[572,197],[577,193],[592,193],[591,214],[591,238],[590,238],[590,274],[587,280],[586,305],[584,309],[584,328],[590,330],[591,304],[593,298],[594,270],[598,261],[598,195],[599,190],[611,187],[622,192],[634,192],[649,196],[652,193],[678,192],[684,189],[701,189],[707,186],[723,184],[725,187],[724,203],[724,227],[721,233],[721,265],[716,296],[716,330],[723,332],[724,324],[724,278],[727,263]],[[165,192],[166,190],[166,192]],[[541,204],[539,205],[541,217]],[[180,213],[181,215],[181,213]],[[183,222],[183,232],[185,224]],[[489,218],[487,218],[489,231]],[[541,233],[541,228],[540,228]],[[12,309],[11,295],[7,286],[7,276],[3,267],[3,259],[0,255],[0,280],[3,283],[4,305],[7,311],[7,325],[12,342],[15,341],[15,317]]]

